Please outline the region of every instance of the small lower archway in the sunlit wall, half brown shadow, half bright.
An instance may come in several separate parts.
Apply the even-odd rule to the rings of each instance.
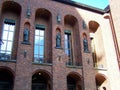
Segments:
[[[96,88],[97,90],[106,90],[107,88],[107,80],[105,76],[102,74],[97,74],[95,77],[96,80]]]

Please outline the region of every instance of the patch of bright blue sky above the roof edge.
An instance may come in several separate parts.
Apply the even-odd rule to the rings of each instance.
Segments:
[[[72,1],[80,2],[100,9],[105,9],[105,7],[109,4],[108,0],[72,0]]]

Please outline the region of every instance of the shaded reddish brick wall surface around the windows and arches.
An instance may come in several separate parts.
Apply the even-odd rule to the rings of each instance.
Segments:
[[[5,0],[0,1],[0,5],[2,7],[2,3]],[[82,20],[83,18],[77,12],[77,10],[69,5],[61,4],[51,0],[31,0],[30,7],[31,7],[31,16],[30,18],[26,17],[26,9],[28,5],[28,0],[14,0],[15,2],[21,5],[21,15],[17,17],[20,20],[20,26],[18,24],[19,35],[16,35],[15,38],[19,38],[16,40],[18,41],[17,52],[13,55],[17,55],[16,63],[8,65],[10,68],[14,69],[15,71],[15,83],[14,83],[14,90],[31,90],[31,81],[32,76],[36,70],[44,70],[49,72],[52,77],[52,90],[67,90],[67,76],[69,73],[79,73],[80,77],[82,78],[82,88],[85,90],[95,90],[95,80],[94,80],[94,73],[93,73],[93,65],[92,65],[92,58],[91,53],[84,54],[83,52],[83,44],[82,44]],[[14,4],[14,3],[13,3]],[[39,8],[44,8],[51,13],[48,22],[45,21],[47,26],[46,31],[47,38],[46,38],[46,57],[52,61],[52,65],[40,65],[33,63],[33,53],[34,53],[34,32],[35,32],[35,24],[38,23],[38,19],[35,20],[36,10]],[[0,9],[1,10],[1,9]],[[1,12],[2,13],[2,12]],[[56,21],[57,14],[60,13],[61,16],[61,23],[58,24]],[[47,15],[47,14],[44,14]],[[66,61],[67,56],[64,52],[64,17],[66,15],[72,15],[77,19],[77,25],[72,27],[74,29],[74,59],[76,62],[81,62],[81,65],[78,67],[67,67]],[[3,18],[4,13],[1,14],[0,17]],[[2,20],[0,20],[2,22]],[[25,23],[30,23],[30,45],[21,44],[23,41],[23,30]],[[44,24],[44,21],[39,22],[40,24]],[[0,27],[2,28],[2,27]],[[61,30],[61,46],[62,49],[56,49],[56,28],[60,28]],[[75,34],[76,33],[76,34]],[[88,30],[85,31],[88,35]],[[89,41],[89,40],[88,40]],[[24,51],[27,51],[27,56],[24,57]],[[78,61],[77,61],[78,60]],[[90,64],[87,63],[88,60]],[[9,62],[11,63],[11,62]],[[7,64],[7,63],[6,63]],[[3,63],[0,64],[1,66],[4,65]],[[6,65],[5,65],[6,66]],[[84,82],[84,85],[83,85]]]

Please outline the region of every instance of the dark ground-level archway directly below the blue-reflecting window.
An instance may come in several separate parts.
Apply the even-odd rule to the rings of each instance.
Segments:
[[[32,76],[32,90],[52,90],[50,75],[45,71],[37,71]]]

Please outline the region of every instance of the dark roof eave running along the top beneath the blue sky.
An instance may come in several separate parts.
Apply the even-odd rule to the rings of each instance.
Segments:
[[[99,14],[104,14],[104,13],[107,13],[107,12],[110,11],[110,9],[107,9],[107,11],[106,11],[106,8],[109,5],[104,10],[102,10],[102,9],[95,8],[95,7],[86,5],[86,4],[77,3],[77,2],[74,2],[74,1],[71,1],[71,0],[53,0],[53,1],[60,2],[60,3],[63,3],[63,4],[67,4],[67,5],[71,5],[71,6],[78,7],[78,8],[82,8],[82,9],[92,11],[92,12],[95,12],[95,13],[99,13]]]

